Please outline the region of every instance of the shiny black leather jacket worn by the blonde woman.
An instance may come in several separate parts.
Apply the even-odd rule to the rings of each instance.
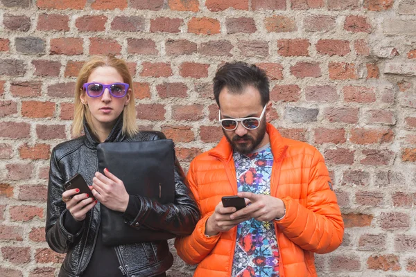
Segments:
[[[139,132],[136,136],[127,138],[121,134],[120,121],[121,116],[106,142],[165,139],[161,132]],[[62,202],[62,193],[65,181],[76,173],[83,175],[87,184],[92,185],[94,173],[98,171],[97,145],[98,141],[85,125],[85,136],[60,143],[51,154],[46,211],[46,242],[53,251],[67,253],[59,276],[81,276],[95,247],[101,219],[99,203],[87,213],[80,231],[76,234],[69,233],[63,223],[64,213],[69,213],[69,211],[66,210],[65,204]],[[191,234],[199,220],[200,213],[191,191],[184,182],[184,172],[176,162],[175,202],[163,205],[153,202],[147,197],[139,197],[141,202],[139,214],[136,220],[127,222],[127,224],[136,229],[148,226],[153,230],[165,230],[172,233],[172,236]],[[115,251],[120,262],[119,268],[127,276],[161,274],[173,263],[173,256],[166,240],[119,245],[115,247]]]

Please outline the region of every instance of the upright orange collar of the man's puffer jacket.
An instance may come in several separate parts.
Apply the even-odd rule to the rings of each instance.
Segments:
[[[273,127],[273,125],[271,125],[270,123],[266,123],[266,132],[269,135],[273,159],[277,161],[277,159],[281,157],[281,154],[284,153],[287,146],[284,145],[283,137],[281,136],[279,131],[277,131],[277,129]],[[225,160],[229,162],[232,159],[232,147],[225,138],[225,136],[223,136],[218,145],[216,145],[215,148],[209,150],[208,154],[220,160]]]

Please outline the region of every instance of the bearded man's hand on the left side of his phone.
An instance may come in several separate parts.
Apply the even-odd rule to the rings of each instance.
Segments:
[[[223,202],[218,203],[215,207],[214,213],[209,217],[205,224],[205,235],[216,235],[220,232],[228,231],[232,227],[238,225],[240,222],[249,220],[249,216],[234,217],[231,219],[229,215],[236,211],[235,207],[223,206]]]

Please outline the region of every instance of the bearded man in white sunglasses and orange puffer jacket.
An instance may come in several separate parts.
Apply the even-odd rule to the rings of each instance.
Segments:
[[[214,96],[224,137],[191,162],[202,219],[177,238],[178,255],[199,263],[194,276],[317,276],[313,253],[336,249],[344,232],[322,155],[267,123],[268,78],[257,66],[222,66]],[[225,208],[230,195],[248,206]]]

